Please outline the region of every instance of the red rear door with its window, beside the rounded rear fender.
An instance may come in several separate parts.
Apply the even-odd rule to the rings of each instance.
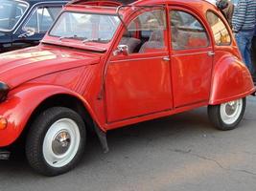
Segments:
[[[191,11],[172,8],[169,15],[174,106],[207,102],[214,56],[210,37]]]

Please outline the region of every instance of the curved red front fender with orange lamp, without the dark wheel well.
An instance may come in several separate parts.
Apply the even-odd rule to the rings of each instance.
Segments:
[[[97,122],[93,110],[80,95],[60,86],[27,84],[11,91],[8,99],[0,103],[0,116],[6,117],[8,120],[7,128],[0,130],[0,147],[12,144],[20,136],[35,108],[43,100],[59,94],[79,98],[91,117]]]

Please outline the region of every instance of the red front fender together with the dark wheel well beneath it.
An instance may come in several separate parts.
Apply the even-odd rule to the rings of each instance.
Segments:
[[[64,106],[78,112],[89,127],[94,122],[98,124],[90,105],[80,95],[59,86],[25,85],[13,90],[8,101],[1,103],[0,115],[9,123],[0,134],[0,146],[9,146],[24,138],[36,115],[51,106]]]

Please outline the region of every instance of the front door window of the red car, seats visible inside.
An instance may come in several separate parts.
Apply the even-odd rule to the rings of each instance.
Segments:
[[[128,32],[120,45],[128,46],[128,53],[151,53],[166,50],[166,14],[163,10],[146,11],[128,24]]]

